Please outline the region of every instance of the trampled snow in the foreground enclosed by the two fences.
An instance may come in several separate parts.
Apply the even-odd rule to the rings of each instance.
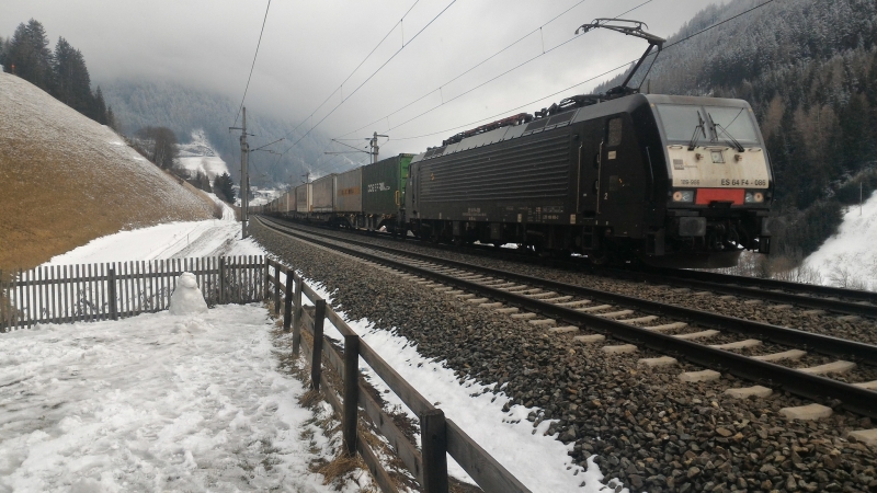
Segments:
[[[332,447],[271,329],[228,305],[4,334],[0,492],[333,491],[308,470]]]

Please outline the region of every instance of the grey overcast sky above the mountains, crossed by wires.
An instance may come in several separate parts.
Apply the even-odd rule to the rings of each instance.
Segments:
[[[381,147],[383,156],[420,152],[456,131],[479,125],[482,118],[533,113],[563,96],[590,91],[605,77],[545,98],[637,58],[647,43],[595,31],[551,48],[576,37],[579,25],[594,18],[618,15],[643,1],[457,0],[412,41],[452,0],[273,0],[246,105],[250,113],[295,123],[307,121],[304,127],[309,128],[308,115],[329,98],[314,115],[316,124],[342,102],[343,92],[343,104],[319,130],[329,137],[355,139],[376,130],[390,136]],[[64,36],[82,50],[93,83],[117,78],[163,79],[240,101],[266,3],[2,0],[0,35],[12,35],[19,23],[33,18],[46,27],[53,47],[58,36]],[[645,21],[651,33],[668,37],[710,3],[716,2],[652,0],[625,18]],[[478,69],[447,83],[543,25]],[[344,83],[343,91],[337,91],[387,33],[386,41]],[[351,95],[403,42],[405,49]],[[548,53],[539,56],[543,50]],[[537,56],[522,68],[448,102]],[[535,100],[539,101],[515,110]],[[434,106],[441,107],[406,123]],[[459,126],[463,128],[455,129]],[[433,133],[438,134],[410,139]]]

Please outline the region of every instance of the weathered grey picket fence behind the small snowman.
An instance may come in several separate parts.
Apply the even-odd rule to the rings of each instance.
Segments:
[[[166,310],[183,272],[195,275],[208,306],[261,301],[265,296],[261,255],[0,271],[0,331]]]

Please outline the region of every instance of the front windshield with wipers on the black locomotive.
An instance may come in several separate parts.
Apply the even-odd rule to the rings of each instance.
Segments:
[[[657,104],[668,141],[724,142],[732,136],[739,142],[758,144],[759,134],[745,107]]]

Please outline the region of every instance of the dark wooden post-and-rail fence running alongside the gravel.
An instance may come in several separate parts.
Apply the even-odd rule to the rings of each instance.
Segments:
[[[281,273],[285,274],[285,282],[281,280]],[[273,293],[271,293],[271,285],[273,285]],[[387,438],[396,455],[425,493],[447,493],[447,454],[487,493],[529,492],[459,426],[446,419],[441,409],[430,403],[392,367],[387,365],[322,298],[303,282],[298,274],[273,260],[267,260],[265,294],[273,296],[275,313],[280,314],[281,306],[283,306],[284,330],[293,331],[293,353],[298,355],[304,347],[304,354],[311,365],[311,388],[321,390],[326,400],[341,416],[346,454],[351,456],[360,454],[381,491],[396,492],[397,489],[357,429],[360,408],[365,413],[365,417]],[[305,309],[303,295],[307,296],[312,303],[308,310]],[[323,335],[326,319],[329,319],[344,336],[343,353],[340,353]],[[301,337],[301,331],[310,335],[310,340],[314,342],[312,346],[307,339]],[[405,433],[396,426],[392,417],[384,412],[383,405],[364,387],[358,370],[360,357],[419,416],[420,450],[411,444]],[[323,364],[332,368],[340,377],[343,386],[343,389],[340,389],[340,397],[327,380],[326,375],[322,374]],[[514,444],[509,444],[509,446],[513,447]]]

